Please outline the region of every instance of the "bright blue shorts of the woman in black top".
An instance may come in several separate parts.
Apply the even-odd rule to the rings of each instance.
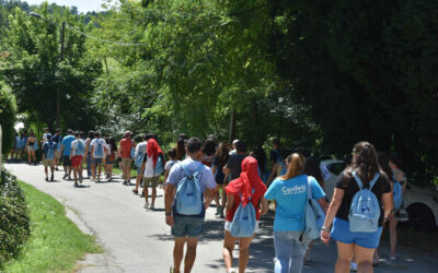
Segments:
[[[349,230],[349,222],[335,217],[331,237],[344,244],[355,244],[362,248],[378,248],[382,227],[373,233],[353,233]]]

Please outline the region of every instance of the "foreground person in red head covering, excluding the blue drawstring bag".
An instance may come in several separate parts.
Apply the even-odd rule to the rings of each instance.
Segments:
[[[226,263],[227,272],[235,272],[232,269],[235,241],[239,240],[239,272],[245,272],[247,262],[250,260],[250,245],[258,232],[260,216],[267,213],[269,210],[268,202],[264,198],[266,186],[263,183],[258,176],[257,161],[247,156],[242,162],[242,173],[238,179],[232,180],[226,188],[227,190],[227,204],[226,204],[226,224],[224,224],[224,239],[223,239],[223,261]],[[233,237],[231,226],[234,224],[234,215],[238,207],[242,204],[252,205],[255,210],[255,226],[254,234],[251,237]],[[262,210],[260,207],[262,206]]]

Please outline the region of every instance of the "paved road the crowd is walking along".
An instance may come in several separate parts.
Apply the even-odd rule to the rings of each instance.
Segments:
[[[83,272],[168,272],[172,264],[173,238],[164,223],[163,191],[158,190],[155,211],[142,209],[143,200],[131,192],[132,187],[114,182],[84,181],[73,188],[72,181],[61,180],[57,171],[55,182],[44,180],[43,166],[5,164],[20,180],[44,191],[73,210],[80,223],[93,233],[105,250],[105,256],[91,256],[82,264],[91,264]],[[193,272],[224,272],[222,262],[222,222],[215,217],[214,207],[207,211],[206,233],[201,236]],[[273,272],[274,246],[272,215],[262,218],[261,233],[251,246],[247,272]],[[388,257],[388,246],[381,257]],[[237,253],[237,252],[235,252]],[[374,272],[437,272],[438,256],[401,249],[399,261],[382,261]],[[312,262],[303,272],[333,272],[336,259],[334,244],[330,247],[316,242]],[[92,265],[100,266],[92,266]]]

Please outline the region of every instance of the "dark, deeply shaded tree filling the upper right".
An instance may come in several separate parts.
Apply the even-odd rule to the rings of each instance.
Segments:
[[[270,2],[269,51],[327,152],[369,140],[418,182],[437,175],[437,10],[426,0]]]

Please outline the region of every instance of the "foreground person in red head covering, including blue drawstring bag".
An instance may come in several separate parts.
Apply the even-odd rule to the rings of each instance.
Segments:
[[[232,251],[239,239],[239,272],[245,272],[250,260],[250,245],[258,230],[260,216],[269,209],[264,198],[266,186],[258,176],[258,164],[254,157],[246,156],[243,159],[240,177],[232,180],[226,191],[223,261],[227,272],[235,272],[232,269]]]

